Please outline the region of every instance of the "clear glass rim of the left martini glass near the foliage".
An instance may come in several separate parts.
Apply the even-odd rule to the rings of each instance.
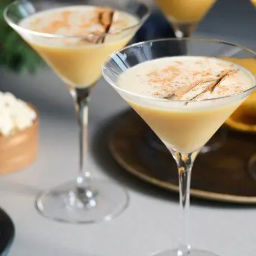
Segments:
[[[147,3],[145,3],[144,1],[138,1],[136,0],[137,3],[143,4],[146,8],[147,8],[147,13],[145,13],[145,15],[143,15],[143,17],[141,19],[138,19],[138,22],[136,22],[136,24],[132,25],[132,26],[128,26],[124,29],[118,29],[115,30],[111,33],[102,33],[100,35],[97,35],[95,33],[90,33],[88,35],[80,35],[80,36],[65,36],[65,35],[56,35],[56,34],[51,34],[51,33],[44,33],[44,32],[38,32],[38,31],[33,31],[31,29],[27,29],[27,28],[22,28],[21,26],[19,26],[18,24],[15,24],[14,22],[12,22],[12,20],[9,19],[8,17],[8,11],[10,10],[10,8],[12,8],[12,6],[15,6],[17,4],[20,4],[22,2],[27,2],[28,0],[15,0],[12,3],[8,4],[5,8],[4,8],[4,13],[3,13],[3,17],[4,20],[8,23],[9,26],[11,26],[13,29],[17,30],[17,31],[22,31],[24,33],[27,33],[29,35],[34,35],[34,36],[44,36],[47,38],[91,38],[94,36],[97,37],[104,37],[104,36],[108,36],[108,35],[116,35],[116,34],[120,34],[124,31],[128,31],[129,29],[134,29],[137,27],[142,26],[142,24],[145,22],[145,20],[147,20],[148,16],[150,15],[150,7]],[[72,5],[71,5],[72,6]],[[75,5],[73,5],[75,6]],[[84,6],[86,6],[86,4],[84,4]],[[38,12],[36,12],[38,13]],[[33,13],[35,14],[35,13]],[[86,30],[84,30],[86,31]]]

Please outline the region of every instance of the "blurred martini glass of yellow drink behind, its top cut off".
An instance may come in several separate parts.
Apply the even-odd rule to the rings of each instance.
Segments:
[[[177,38],[190,37],[216,0],[155,0]]]

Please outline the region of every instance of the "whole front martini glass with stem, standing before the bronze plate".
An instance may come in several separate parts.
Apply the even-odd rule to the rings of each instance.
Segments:
[[[189,51],[177,54],[177,47]],[[170,56],[210,56],[216,58],[255,58],[256,53],[243,47],[204,39],[163,39],[134,44],[109,56],[102,67],[104,79],[131,104],[132,108],[156,132],[175,159],[179,171],[180,245],[157,256],[213,256],[211,252],[191,249],[189,243],[189,189],[191,169],[200,148],[211,138],[229,115],[255,90],[209,100],[168,100],[139,95],[118,86],[118,77],[128,68],[144,61]],[[139,78],[138,78],[139,79]],[[134,82],[133,82],[134,83]],[[138,83],[139,86],[140,83]],[[187,107],[189,109],[186,109]],[[175,124],[175,125],[173,125]],[[241,150],[243,150],[241,148]],[[207,172],[207,170],[204,170]]]

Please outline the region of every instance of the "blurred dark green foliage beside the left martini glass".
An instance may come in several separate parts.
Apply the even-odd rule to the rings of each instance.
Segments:
[[[9,3],[12,3],[12,0],[0,0],[0,67],[15,72],[24,70],[35,72],[44,61],[5,22],[3,12]]]

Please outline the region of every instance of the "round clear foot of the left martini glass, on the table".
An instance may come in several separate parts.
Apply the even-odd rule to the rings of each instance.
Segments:
[[[111,220],[127,207],[127,191],[108,180],[90,180],[90,188],[76,187],[75,181],[43,191],[36,198],[36,209],[52,220],[93,223]]]

